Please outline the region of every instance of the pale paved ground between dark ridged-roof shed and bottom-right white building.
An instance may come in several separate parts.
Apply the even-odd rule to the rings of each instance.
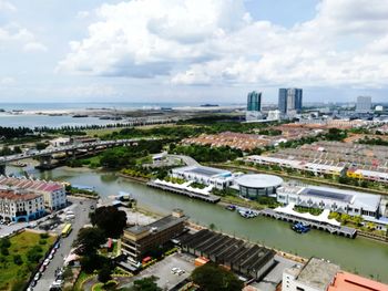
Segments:
[[[285,259],[280,256],[275,256],[278,264],[270,270],[269,273],[261,282],[254,282],[251,285],[257,288],[259,291],[275,291],[276,285],[282,281],[284,269],[290,268],[297,264],[295,261]]]

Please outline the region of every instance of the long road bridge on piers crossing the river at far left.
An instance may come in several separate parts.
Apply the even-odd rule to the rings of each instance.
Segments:
[[[155,139],[155,138],[147,138],[147,141],[150,139]],[[96,150],[101,150],[108,147],[133,145],[133,144],[136,144],[141,139],[133,138],[133,139],[116,139],[116,141],[98,141],[98,142],[91,142],[91,143],[80,143],[80,144],[71,144],[65,146],[57,146],[57,147],[50,147],[42,150],[30,150],[23,154],[3,156],[3,157],[0,157],[0,175],[6,174],[7,164],[27,159],[27,158],[39,158],[40,168],[52,168],[51,160],[54,154],[65,153],[67,157],[72,156],[75,158],[76,153],[80,150],[86,150],[88,153],[96,153]]]

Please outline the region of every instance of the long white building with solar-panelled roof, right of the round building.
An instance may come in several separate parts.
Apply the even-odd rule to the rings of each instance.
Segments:
[[[329,209],[351,216],[378,218],[381,196],[318,186],[284,185],[277,189],[277,201],[288,205]]]

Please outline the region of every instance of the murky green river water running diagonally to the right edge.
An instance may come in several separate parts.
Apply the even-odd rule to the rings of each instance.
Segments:
[[[344,270],[388,283],[388,245],[382,242],[348,239],[319,230],[299,235],[284,221],[266,217],[245,219],[221,206],[149,188],[111,173],[57,168],[37,175],[47,180],[94,186],[102,197],[116,195],[120,190],[129,191],[140,206],[156,212],[169,214],[174,208],[181,208],[193,222],[203,226],[213,224],[217,230],[302,257],[326,258]]]

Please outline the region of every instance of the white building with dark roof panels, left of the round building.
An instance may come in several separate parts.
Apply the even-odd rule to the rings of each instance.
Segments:
[[[233,184],[234,176],[229,170],[204,167],[187,166],[173,168],[172,176],[185,180],[193,180],[204,185],[213,185],[215,188],[224,189]]]

